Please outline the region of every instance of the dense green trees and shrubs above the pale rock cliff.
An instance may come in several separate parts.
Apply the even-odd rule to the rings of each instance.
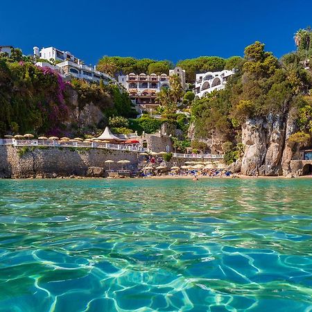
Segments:
[[[227,143],[223,150],[229,163],[239,159],[241,124],[246,119],[272,114],[286,122],[290,110],[295,110],[300,131],[310,137],[312,77],[303,68],[300,53],[290,53],[277,60],[265,51],[264,44],[255,42],[245,48],[243,60],[235,57],[228,62],[236,63],[236,73],[225,89],[197,99],[191,105],[198,139],[214,135],[222,138]],[[292,139],[306,140],[306,136],[294,135]],[[232,144],[229,145],[229,141]]]

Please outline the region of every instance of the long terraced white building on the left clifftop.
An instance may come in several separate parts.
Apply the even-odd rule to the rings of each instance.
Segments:
[[[33,53],[36,58],[42,58],[44,60],[55,60],[58,61],[57,64],[51,65],[49,62],[37,62],[36,65],[40,67],[50,67],[59,71],[63,78],[79,78],[85,79],[92,82],[99,83],[103,80],[104,84],[108,84],[112,77],[101,71],[97,71],[95,67],[89,67],[83,64],[83,61],[73,56],[68,51],[60,51],[53,48],[43,48],[39,51],[39,48],[35,46],[33,48]]]

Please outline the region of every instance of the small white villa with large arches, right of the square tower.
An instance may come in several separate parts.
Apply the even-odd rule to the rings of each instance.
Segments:
[[[214,90],[220,90],[225,88],[227,79],[234,74],[234,71],[208,71],[207,73],[196,74],[196,85],[193,92],[198,98],[202,98],[208,93]]]

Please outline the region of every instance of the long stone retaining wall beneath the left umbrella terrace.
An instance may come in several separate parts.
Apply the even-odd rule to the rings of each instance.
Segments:
[[[137,153],[127,151],[0,146],[0,177],[85,176],[92,166],[108,169],[107,159],[127,159],[131,162],[127,168],[137,169]],[[121,170],[121,164],[111,164],[111,168]]]

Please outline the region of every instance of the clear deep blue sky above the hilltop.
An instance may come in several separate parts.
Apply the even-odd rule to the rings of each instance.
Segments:
[[[13,4],[14,3],[14,4]],[[306,0],[1,1],[0,45],[55,46],[86,64],[102,55],[178,60],[243,55],[259,40],[280,57],[312,24]]]

